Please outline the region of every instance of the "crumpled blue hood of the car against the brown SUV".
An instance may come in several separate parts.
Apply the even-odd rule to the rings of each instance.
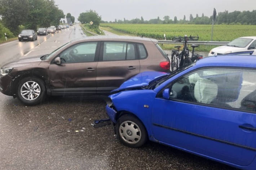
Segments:
[[[125,81],[121,86],[117,89],[114,89],[112,92],[118,92],[125,89],[132,89],[132,88],[138,88],[138,87],[145,87],[150,84],[151,81],[155,81],[156,79],[160,79],[162,76],[167,75],[170,73],[165,72],[142,72],[134,77],[128,79]]]

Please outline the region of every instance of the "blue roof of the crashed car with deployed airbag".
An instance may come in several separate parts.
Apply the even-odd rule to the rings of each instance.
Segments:
[[[256,68],[256,55],[219,55],[198,60],[196,67],[232,66]]]

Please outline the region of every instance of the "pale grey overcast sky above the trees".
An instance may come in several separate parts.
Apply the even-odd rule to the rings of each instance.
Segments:
[[[133,19],[140,18],[149,20],[153,18],[163,19],[169,15],[171,19],[177,16],[178,19],[189,19],[198,13],[199,16],[204,13],[206,16],[212,15],[213,8],[217,13],[228,10],[254,10],[256,9],[256,0],[55,0],[64,14],[71,13],[77,18],[80,13],[89,9],[95,10],[101,15],[102,20],[114,21],[115,19]]]

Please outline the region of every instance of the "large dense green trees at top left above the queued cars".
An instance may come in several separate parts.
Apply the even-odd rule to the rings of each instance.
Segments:
[[[0,22],[17,35],[26,29],[58,25],[65,15],[54,0],[0,0]]]

